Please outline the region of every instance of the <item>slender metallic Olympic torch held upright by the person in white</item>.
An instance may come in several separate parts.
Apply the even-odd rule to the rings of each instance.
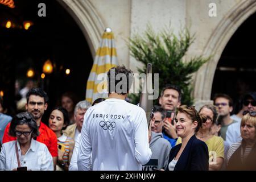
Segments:
[[[147,117],[147,124],[148,127],[150,126],[150,120],[151,120],[151,113],[152,113],[152,107],[153,107],[153,100],[149,99],[148,96],[153,95],[153,93],[150,93],[152,91],[152,64],[147,64],[147,70],[146,70],[146,79],[144,80],[144,85],[142,87],[142,93],[141,98],[139,100],[139,106],[144,109],[146,112]]]

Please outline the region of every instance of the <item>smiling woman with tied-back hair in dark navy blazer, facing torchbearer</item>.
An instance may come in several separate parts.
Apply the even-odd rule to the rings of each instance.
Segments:
[[[170,171],[208,171],[209,153],[207,144],[196,138],[202,123],[206,121],[195,106],[177,108],[176,131],[180,144],[172,148],[167,169]]]

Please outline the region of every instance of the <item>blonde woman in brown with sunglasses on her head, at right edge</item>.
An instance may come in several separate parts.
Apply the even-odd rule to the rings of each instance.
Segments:
[[[256,170],[256,112],[243,113],[240,130],[242,141],[228,151],[228,170]]]

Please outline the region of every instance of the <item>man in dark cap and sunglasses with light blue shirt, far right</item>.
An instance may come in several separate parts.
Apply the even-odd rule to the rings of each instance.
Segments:
[[[245,111],[256,111],[256,92],[250,92],[243,96],[243,106],[238,114],[232,115],[238,122],[230,125],[226,131],[226,142],[231,146],[233,143],[240,142],[241,138],[241,119]]]

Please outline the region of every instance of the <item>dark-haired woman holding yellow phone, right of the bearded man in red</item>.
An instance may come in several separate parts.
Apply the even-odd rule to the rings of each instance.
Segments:
[[[68,171],[68,166],[73,154],[73,148],[75,146],[74,140],[62,133],[62,130],[64,130],[68,124],[68,111],[63,107],[55,107],[49,117],[49,128],[56,134],[58,139],[57,170],[59,171]]]

